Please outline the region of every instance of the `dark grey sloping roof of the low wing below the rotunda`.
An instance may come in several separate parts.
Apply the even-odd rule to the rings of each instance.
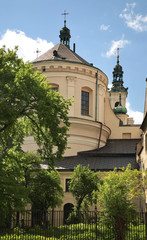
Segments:
[[[114,168],[127,167],[137,169],[136,143],[139,139],[108,140],[107,145],[99,150],[80,152],[78,156],[65,157],[56,162],[58,171],[73,171],[81,164],[95,171],[110,171]]]

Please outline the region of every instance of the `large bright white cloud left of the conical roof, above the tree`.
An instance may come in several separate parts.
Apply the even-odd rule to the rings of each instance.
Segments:
[[[10,49],[18,46],[18,56],[23,58],[24,61],[34,60],[37,57],[37,49],[39,50],[39,55],[41,55],[54,46],[52,42],[47,42],[41,38],[32,39],[27,37],[22,31],[9,29],[0,37],[0,47],[3,45]]]

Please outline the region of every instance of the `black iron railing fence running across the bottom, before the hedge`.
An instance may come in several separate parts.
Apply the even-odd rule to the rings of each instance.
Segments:
[[[0,240],[146,240],[146,219],[146,213],[138,213],[121,222],[98,211],[1,213]]]

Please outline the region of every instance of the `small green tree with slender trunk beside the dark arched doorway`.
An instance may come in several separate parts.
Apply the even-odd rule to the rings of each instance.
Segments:
[[[81,209],[82,203],[84,202],[92,204],[93,191],[98,190],[99,181],[100,179],[98,174],[91,171],[88,167],[78,165],[74,169],[69,190],[76,199],[77,211]]]

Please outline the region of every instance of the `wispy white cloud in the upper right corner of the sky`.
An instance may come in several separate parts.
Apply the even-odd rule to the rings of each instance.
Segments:
[[[147,31],[147,15],[143,16],[142,14],[136,14],[134,12],[135,7],[136,3],[127,3],[126,8],[120,14],[120,17],[125,20],[128,27],[135,31]]]

